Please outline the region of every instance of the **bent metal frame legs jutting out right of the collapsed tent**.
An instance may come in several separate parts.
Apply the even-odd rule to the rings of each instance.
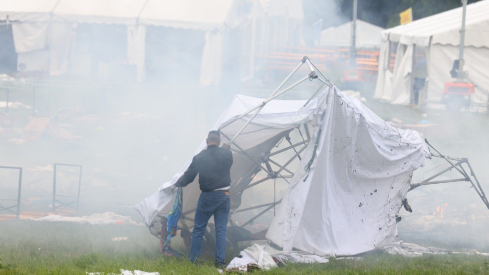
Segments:
[[[484,204],[486,205],[486,207],[489,209],[489,201],[486,197],[486,194],[484,193],[484,190],[482,190],[482,186],[481,184],[479,183],[479,180],[477,179],[477,176],[476,174],[474,173],[474,169],[472,169],[472,166],[469,162],[469,159],[467,158],[455,158],[455,157],[449,157],[449,156],[445,156],[443,155],[442,153],[440,153],[437,149],[435,149],[435,147],[433,147],[433,145],[431,145],[428,140],[425,139],[425,142],[426,144],[431,148],[433,149],[435,152],[431,152],[431,156],[432,157],[436,157],[436,158],[441,158],[441,159],[444,159],[446,160],[449,165],[447,168],[443,169],[442,171],[434,174],[433,176],[423,180],[422,182],[419,182],[419,183],[411,183],[411,187],[409,188],[408,192],[417,188],[417,187],[420,187],[420,186],[423,186],[423,185],[431,185],[431,184],[440,184],[440,183],[451,183],[451,182],[470,182],[471,185],[472,185],[472,188],[474,188],[474,190],[477,192],[477,194],[479,195],[479,197],[481,197],[482,201],[484,202]],[[466,164],[468,170],[470,171],[470,173],[467,173],[466,171],[466,168],[464,168],[462,165],[463,164]],[[457,170],[457,172],[459,172],[463,177],[462,178],[456,178],[456,179],[449,179],[449,180],[439,180],[439,181],[433,181],[433,179],[437,178],[438,176],[440,175],[443,175],[449,171],[451,171],[452,169],[455,169]]]

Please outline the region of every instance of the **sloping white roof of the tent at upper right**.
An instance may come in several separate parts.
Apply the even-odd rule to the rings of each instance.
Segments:
[[[382,32],[384,41],[410,45],[428,46],[432,44],[460,44],[462,7],[428,16],[405,25],[399,25]],[[485,33],[484,35],[481,35]],[[489,0],[467,5],[465,45],[488,47],[489,45]]]

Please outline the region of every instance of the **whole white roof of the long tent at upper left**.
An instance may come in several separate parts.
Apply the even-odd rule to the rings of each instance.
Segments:
[[[143,24],[210,30],[226,22],[234,0],[0,0],[0,20]]]

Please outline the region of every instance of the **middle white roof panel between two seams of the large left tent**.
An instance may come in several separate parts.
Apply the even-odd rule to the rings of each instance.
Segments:
[[[60,0],[53,19],[78,23],[136,24],[147,0]]]

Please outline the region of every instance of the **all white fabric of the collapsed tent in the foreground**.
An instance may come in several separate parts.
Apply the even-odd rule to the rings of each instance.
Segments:
[[[253,106],[263,108],[258,113],[247,113],[246,110],[256,110]],[[245,130],[234,139],[248,121]],[[234,210],[249,199],[241,197],[245,187],[263,182],[251,183],[257,171],[266,171],[269,179],[275,173],[285,178],[280,173],[287,171],[286,165],[270,171],[262,164],[283,151],[276,148],[277,143],[301,125],[305,126],[307,140],[291,147],[298,148],[296,155],[302,158],[292,172],[266,238],[284,252],[299,249],[319,256],[356,255],[399,245],[396,215],[413,171],[430,156],[428,148],[418,132],[390,126],[359,100],[334,86],[323,88],[307,102],[235,97],[213,127],[222,132],[223,142],[234,139],[230,223],[234,224]],[[305,145],[300,148],[300,144]],[[203,142],[195,154],[204,148]],[[174,199],[171,186],[191,160],[171,181],[136,205],[156,236]],[[193,225],[199,194],[196,183],[184,188],[179,223],[183,230]]]

